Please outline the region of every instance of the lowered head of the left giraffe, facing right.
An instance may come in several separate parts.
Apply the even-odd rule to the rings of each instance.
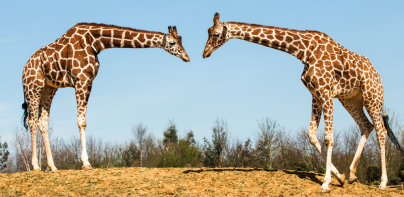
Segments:
[[[184,62],[191,61],[184,47],[182,46],[182,37],[177,35],[177,27],[168,27],[169,34],[163,37],[163,49],[168,53],[181,58]]]

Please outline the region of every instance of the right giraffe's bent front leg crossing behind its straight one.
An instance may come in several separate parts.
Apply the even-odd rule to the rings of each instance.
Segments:
[[[311,122],[310,122],[310,129],[308,133],[308,137],[310,139],[310,143],[317,149],[320,153],[321,157],[326,161],[326,155],[324,152],[321,152],[321,145],[317,139],[317,129],[318,125],[320,124],[321,114],[322,114],[322,107],[317,103],[317,99],[314,98],[312,100],[312,114],[311,114]],[[331,163],[331,174],[340,182],[341,185],[345,183],[345,174],[340,174],[335,168],[335,166]]]

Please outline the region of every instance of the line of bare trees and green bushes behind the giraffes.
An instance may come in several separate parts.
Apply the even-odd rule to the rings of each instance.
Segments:
[[[390,115],[390,127],[403,144],[404,125],[394,113]],[[211,128],[210,139],[198,143],[192,130],[181,136],[173,120],[163,131],[163,138],[148,132],[147,126],[138,123],[133,126],[133,138],[124,143],[113,143],[87,137],[89,162],[94,168],[110,167],[253,167],[264,169],[288,169],[325,173],[325,162],[307,137],[308,130],[302,128],[290,132],[276,120],[263,118],[257,121],[253,138],[241,141],[232,137],[225,119],[216,119]],[[37,133],[38,163],[42,170],[48,170],[42,136]],[[81,169],[80,139],[74,136],[63,139],[53,135],[49,127],[51,149],[55,166],[59,170]],[[318,139],[324,146],[324,132],[319,130]],[[372,132],[363,149],[356,176],[362,183],[377,184],[381,176],[380,149],[376,132]],[[6,173],[30,171],[31,134],[22,128],[13,131],[13,154],[7,150],[7,143],[0,143],[0,170]],[[352,125],[342,132],[334,132],[332,162],[335,167],[349,176],[349,167],[360,140],[360,130]],[[6,157],[6,158],[5,158]],[[386,141],[386,162],[389,184],[404,181],[404,160],[390,140]]]

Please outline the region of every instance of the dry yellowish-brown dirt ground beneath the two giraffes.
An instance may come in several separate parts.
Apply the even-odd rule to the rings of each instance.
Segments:
[[[361,183],[320,194],[323,174],[251,168],[109,168],[0,174],[2,196],[404,196]]]

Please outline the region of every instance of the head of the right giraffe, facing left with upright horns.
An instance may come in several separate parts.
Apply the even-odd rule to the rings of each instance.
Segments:
[[[227,24],[219,21],[220,15],[216,13],[213,17],[213,26],[208,29],[209,38],[203,50],[203,58],[209,57],[213,51],[221,47],[230,39],[230,33],[227,31]]]

